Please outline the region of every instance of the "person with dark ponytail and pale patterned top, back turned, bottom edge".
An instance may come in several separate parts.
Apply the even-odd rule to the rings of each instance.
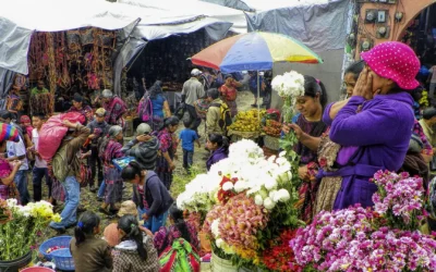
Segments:
[[[113,252],[113,272],[155,272],[159,261],[153,239],[144,235],[134,215],[118,221],[121,243]]]

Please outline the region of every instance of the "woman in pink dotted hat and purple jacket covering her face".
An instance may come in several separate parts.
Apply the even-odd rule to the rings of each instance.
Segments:
[[[419,86],[420,70],[415,53],[404,44],[388,41],[362,53],[362,59],[366,65],[352,97],[324,112],[330,139],[341,145],[336,159],[339,170],[319,174],[343,178],[334,210],[354,203],[373,206],[377,186],[370,178],[378,170],[400,169],[412,134],[410,91]]]

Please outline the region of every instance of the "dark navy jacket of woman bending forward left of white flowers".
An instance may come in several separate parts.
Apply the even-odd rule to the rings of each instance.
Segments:
[[[158,217],[166,212],[174,201],[165,187],[164,183],[159,180],[159,176],[154,171],[147,171],[145,176],[144,195],[141,195],[137,187],[133,187],[133,201],[136,206],[144,209],[143,198],[147,200],[148,211],[147,215]]]

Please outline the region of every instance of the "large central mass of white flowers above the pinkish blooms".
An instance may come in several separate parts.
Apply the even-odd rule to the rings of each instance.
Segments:
[[[290,194],[283,193],[291,183],[291,164],[284,153],[266,159],[263,150],[252,140],[240,140],[230,146],[229,158],[211,165],[207,174],[199,174],[177,198],[180,209],[208,211],[217,203],[218,191],[245,193],[258,206],[274,209],[276,202],[286,202]],[[232,181],[222,185],[223,177]]]

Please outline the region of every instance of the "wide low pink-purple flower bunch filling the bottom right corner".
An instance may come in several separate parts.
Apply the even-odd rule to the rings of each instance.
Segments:
[[[316,271],[436,271],[433,237],[379,227],[379,220],[360,206],[322,212],[290,242],[295,261]]]

